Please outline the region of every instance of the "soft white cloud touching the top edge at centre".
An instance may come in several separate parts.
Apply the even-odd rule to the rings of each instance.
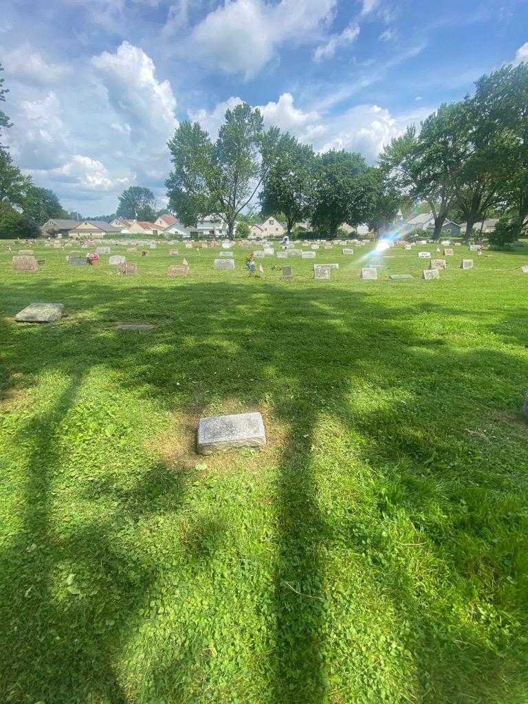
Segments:
[[[191,33],[201,61],[226,73],[255,76],[284,42],[310,42],[332,20],[337,0],[227,0]]]

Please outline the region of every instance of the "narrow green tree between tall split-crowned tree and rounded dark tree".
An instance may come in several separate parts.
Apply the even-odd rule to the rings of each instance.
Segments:
[[[314,160],[312,146],[285,134],[277,161],[264,181],[259,196],[262,213],[264,217],[283,213],[288,234],[296,222],[305,220],[310,213]]]

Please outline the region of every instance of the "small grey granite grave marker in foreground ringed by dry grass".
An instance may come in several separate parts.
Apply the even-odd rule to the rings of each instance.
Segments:
[[[265,444],[266,433],[260,413],[200,418],[196,450],[201,455],[238,447],[263,447]]]

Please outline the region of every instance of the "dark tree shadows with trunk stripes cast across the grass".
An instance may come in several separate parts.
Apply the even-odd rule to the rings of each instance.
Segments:
[[[25,627],[15,620],[16,629],[9,629],[4,640],[13,653],[12,670],[3,674],[11,683],[8,701],[23,701],[23,693],[41,697],[42,692],[48,697],[55,695],[56,701],[82,701],[87,693],[94,701],[96,697],[106,697],[116,704],[134,701],[132,694],[127,698],[122,691],[111,667],[126,631],[124,625],[115,622],[115,603],[132,615],[144,610],[145,595],[156,580],[156,565],[116,553],[106,541],[108,527],[104,524],[80,527],[64,540],[58,539],[51,525],[49,483],[57,463],[53,428],[75,403],[81,373],[91,365],[107,367],[123,388],[156,398],[170,411],[198,408],[207,412],[233,400],[245,408],[266,403],[272,416],[287,429],[275,497],[279,550],[268,665],[272,673],[270,702],[322,704],[333,696],[329,672],[336,665],[331,656],[329,659],[331,650],[325,643],[325,633],[332,627],[325,623],[331,599],[325,585],[324,555],[332,547],[336,527],[321,512],[320,477],[312,449],[320,424],[327,417],[365,439],[360,455],[375,473],[372,505],[382,504],[380,522],[387,513],[381,489],[389,483],[394,492],[394,501],[389,502],[391,510],[408,513],[439,562],[448,565],[448,583],[467,579],[457,562],[457,542],[467,525],[461,522],[450,526],[451,537],[446,541],[443,525],[425,520],[420,524],[420,502],[429,494],[442,510],[448,510],[456,497],[445,496],[442,487],[464,470],[468,484],[477,486],[481,496],[493,491],[500,498],[502,483],[510,478],[501,476],[497,468],[496,486],[483,486],[479,472],[484,458],[438,439],[434,428],[448,427],[456,435],[474,422],[476,407],[479,411],[498,410],[504,403],[513,403],[512,386],[528,373],[528,363],[520,365],[517,359],[496,351],[488,351],[483,359],[480,351],[446,348],[441,340],[427,337],[427,331],[420,335],[408,327],[408,321],[420,312],[414,307],[389,308],[372,302],[368,294],[334,287],[288,289],[265,282],[208,282],[182,283],[171,289],[138,284],[123,291],[118,283],[79,282],[72,288],[35,282],[24,287],[13,285],[8,296],[12,308],[14,301],[20,301],[16,308],[37,299],[64,302],[70,318],[48,328],[20,326],[15,334],[6,325],[4,334],[14,341],[11,348],[4,346],[1,352],[7,370],[6,388],[24,384],[24,379],[30,383],[46,371],[58,371],[72,379],[49,416],[37,417],[32,421],[37,425],[24,430],[24,434],[36,434],[39,440],[28,465],[23,527],[4,553],[1,586],[4,605],[8,605],[4,618],[13,622],[13,603],[23,613],[29,603],[25,600],[30,598],[34,598],[34,615]],[[94,319],[84,319],[85,312]],[[460,311],[455,313],[459,315]],[[147,334],[124,337],[113,329],[113,320],[156,322],[158,327]],[[498,370],[495,386],[489,384],[490,365]],[[497,386],[501,386],[499,391]],[[365,408],[356,403],[358,389],[362,389]],[[379,403],[378,397],[382,399]],[[94,485],[87,498],[114,496],[120,505],[127,505],[125,515],[116,516],[116,520],[138,520],[161,510],[153,502],[153,489],[159,482],[154,467],[125,494],[116,494],[111,482],[101,482]],[[168,491],[183,497],[185,484],[186,480],[175,477]],[[409,488],[413,490],[406,494]],[[462,489],[464,493],[466,487]],[[351,560],[362,560],[365,535],[360,516],[351,519],[349,532],[341,528],[344,538],[340,540],[344,540]],[[215,551],[211,536],[217,530],[213,522],[189,539],[189,560],[201,569],[207,569],[208,558]],[[372,532],[372,526],[365,531]],[[37,545],[35,554],[39,554],[37,550],[46,552],[46,568],[39,590],[35,589],[34,597],[30,592],[26,598],[27,582],[20,575],[27,560],[27,543],[32,542]],[[517,544],[516,554],[522,549]],[[491,542],[485,542],[480,557],[496,562],[494,550]],[[425,701],[450,697],[463,700],[475,692],[480,696],[484,684],[487,694],[500,696],[505,685],[499,677],[503,660],[497,644],[486,641],[478,629],[465,628],[457,618],[443,630],[441,617],[445,615],[428,612],[428,597],[413,584],[401,561],[393,560],[381,535],[377,549],[371,552],[364,560],[372,583],[390,596],[395,611],[415,627],[406,643],[415,653],[419,673],[413,685],[415,696]],[[84,629],[75,634],[75,639],[68,631],[71,607],[56,603],[50,586],[59,560],[62,563],[68,559],[84,574],[84,584],[101,582],[101,598],[92,600],[94,605],[84,615]],[[42,559],[35,565],[35,572],[41,567]],[[26,567],[24,570],[27,573]],[[129,574],[134,575],[133,579],[127,577]],[[495,577],[505,579],[506,572]],[[103,593],[105,585],[113,582],[120,584],[118,591]],[[518,593],[515,599],[520,599]],[[519,601],[505,603],[504,608],[515,610]],[[44,622],[39,622],[41,611]],[[46,624],[57,623],[63,627],[55,635]],[[35,627],[42,636],[31,639],[27,629]],[[56,660],[54,650],[51,661],[46,658],[46,642],[57,637],[65,644],[63,660]],[[430,644],[439,639],[441,645],[431,648]],[[180,668],[191,667],[191,659],[192,654],[187,653],[170,667],[153,664],[152,670],[165,688],[159,696],[165,691],[185,699],[186,692],[175,681]],[[465,663],[463,669],[456,667],[460,660]],[[29,662],[39,671],[38,690],[28,689],[27,673],[20,671],[20,666],[27,667]],[[94,691],[90,679],[94,671],[98,673],[98,691]],[[495,681],[490,684],[491,677]],[[20,684],[24,682],[25,690]]]

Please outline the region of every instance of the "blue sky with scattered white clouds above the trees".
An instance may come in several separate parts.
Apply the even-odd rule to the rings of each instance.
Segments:
[[[528,61],[528,0],[15,0],[0,16],[6,142],[83,214],[132,185],[165,203],[166,140],[248,101],[374,163],[391,137]]]

